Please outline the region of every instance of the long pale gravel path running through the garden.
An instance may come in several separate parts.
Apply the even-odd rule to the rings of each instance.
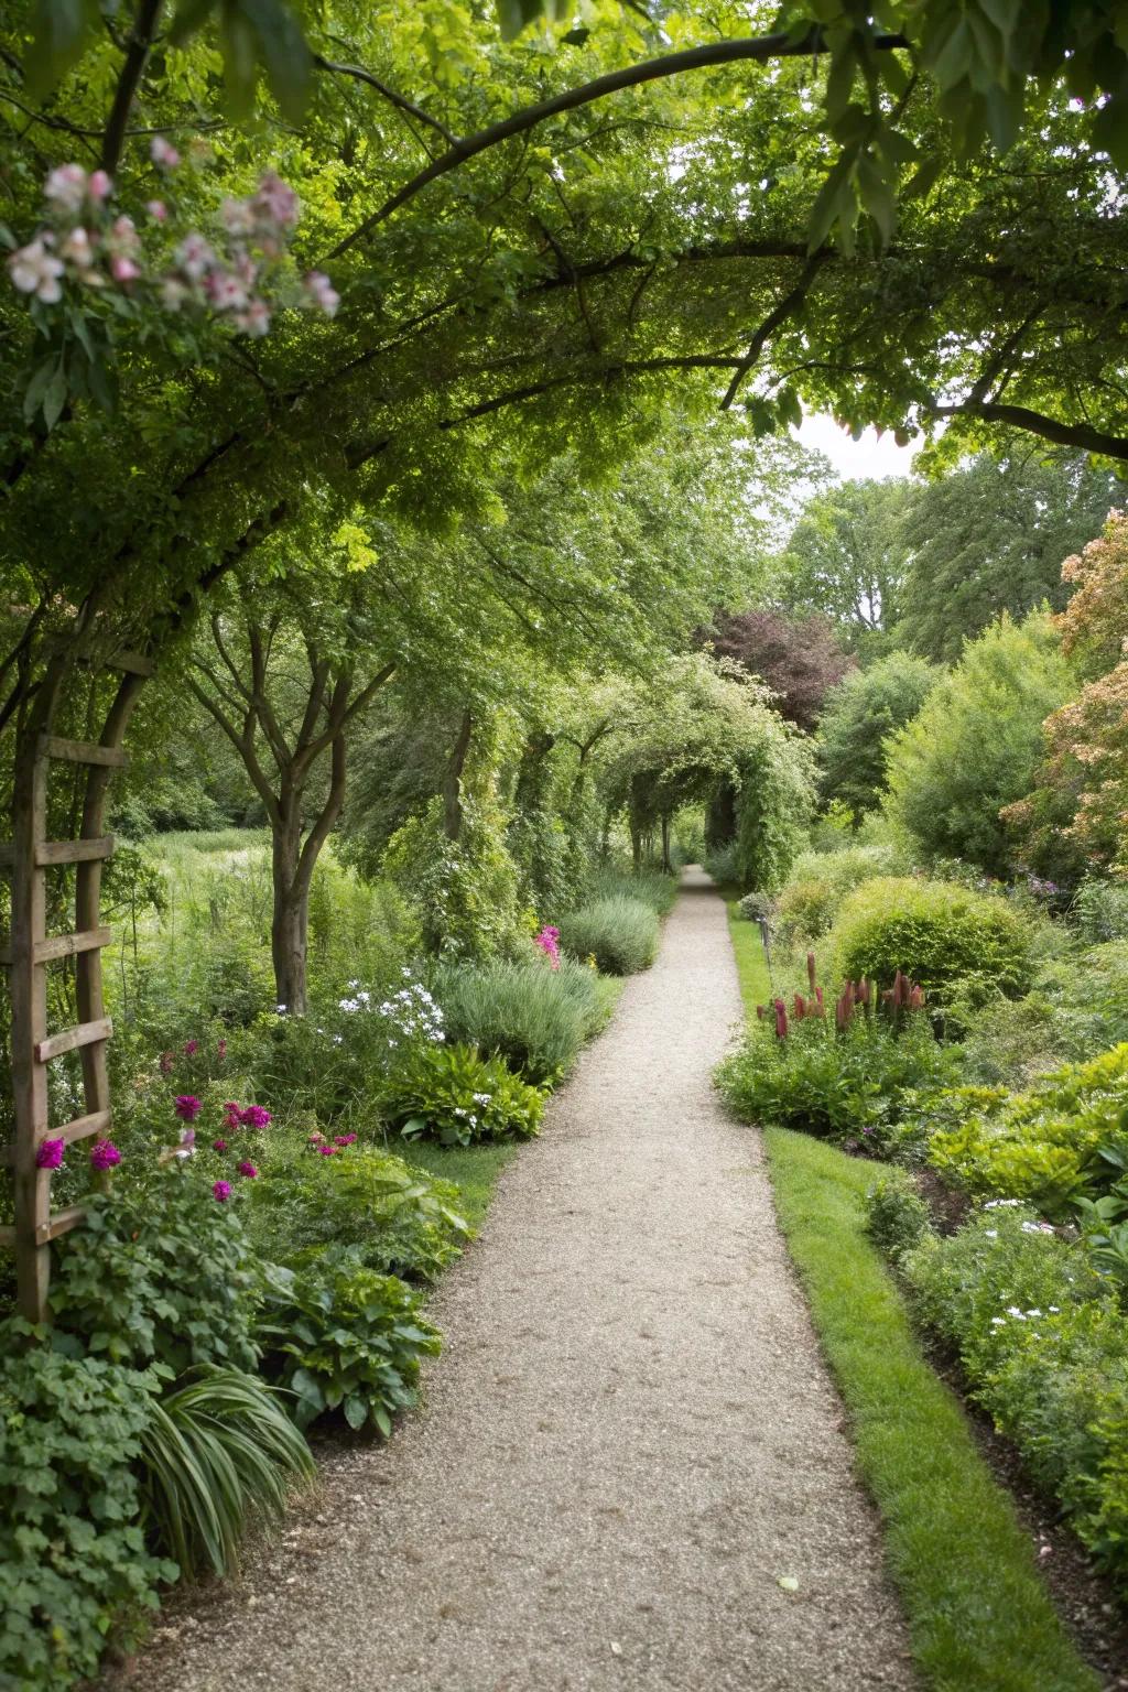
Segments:
[[[758,1135],[710,1090],[739,1014],[690,871],[440,1289],[426,1411],[174,1604],[132,1689],[915,1685]]]

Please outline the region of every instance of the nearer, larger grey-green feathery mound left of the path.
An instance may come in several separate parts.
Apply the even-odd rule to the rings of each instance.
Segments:
[[[602,995],[585,964],[563,958],[494,963],[482,970],[441,966],[433,981],[452,1041],[499,1054],[529,1081],[555,1081],[599,1027]]]

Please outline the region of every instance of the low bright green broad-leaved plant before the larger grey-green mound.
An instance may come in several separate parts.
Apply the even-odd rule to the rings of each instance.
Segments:
[[[472,1046],[418,1046],[399,1058],[384,1086],[384,1108],[404,1139],[440,1145],[529,1139],[545,1095],[521,1081],[501,1058]]]

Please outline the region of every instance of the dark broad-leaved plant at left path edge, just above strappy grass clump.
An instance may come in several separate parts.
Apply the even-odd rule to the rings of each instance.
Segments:
[[[299,1428],[340,1411],[350,1428],[372,1425],[384,1437],[418,1401],[421,1359],[440,1350],[418,1294],[347,1249],[269,1272],[260,1338],[264,1367],[293,1394]]]

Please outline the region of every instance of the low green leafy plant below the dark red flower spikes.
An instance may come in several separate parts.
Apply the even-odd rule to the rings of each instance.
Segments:
[[[744,1122],[776,1122],[803,1134],[891,1151],[917,1095],[954,1078],[956,1056],[928,1019],[901,1030],[883,1017],[854,1017],[839,1034],[822,1017],[795,1022],[786,1039],[754,1029],[726,1058],[717,1085]]]

